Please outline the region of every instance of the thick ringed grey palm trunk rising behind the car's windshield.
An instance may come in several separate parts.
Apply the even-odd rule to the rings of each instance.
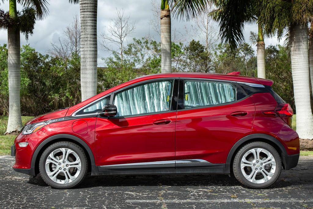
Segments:
[[[81,100],[97,94],[97,0],[80,0]]]

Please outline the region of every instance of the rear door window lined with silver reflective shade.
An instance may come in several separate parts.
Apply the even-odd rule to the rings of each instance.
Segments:
[[[218,105],[236,100],[236,88],[230,83],[215,81],[184,82],[184,109]]]

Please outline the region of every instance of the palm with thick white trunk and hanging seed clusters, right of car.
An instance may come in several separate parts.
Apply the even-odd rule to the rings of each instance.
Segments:
[[[308,21],[313,19],[313,1],[260,0],[258,8],[265,33],[277,34],[280,38],[284,29],[289,29],[297,132],[302,139],[313,139],[308,53]]]

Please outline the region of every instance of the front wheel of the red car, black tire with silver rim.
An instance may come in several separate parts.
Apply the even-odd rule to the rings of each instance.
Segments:
[[[84,150],[71,142],[57,142],[44,150],[39,161],[43,180],[53,188],[69,189],[79,185],[87,174]]]

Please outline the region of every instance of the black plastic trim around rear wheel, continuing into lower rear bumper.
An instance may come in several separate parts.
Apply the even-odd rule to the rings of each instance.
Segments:
[[[230,166],[232,165],[232,160],[234,154],[236,154],[236,150],[238,150],[242,145],[246,144],[248,141],[263,141],[263,142],[271,142],[272,144],[275,144],[274,148],[277,150],[277,152],[280,154],[280,158],[283,164],[284,169],[290,169],[297,165],[298,159],[293,158],[293,161],[290,161],[290,155],[287,154],[287,151],[283,144],[281,144],[280,141],[278,141],[276,138],[269,136],[267,134],[263,133],[254,133],[248,136],[245,136],[244,138],[241,138],[236,144],[233,145],[232,149],[230,149],[227,159],[226,159],[226,170],[230,173]],[[296,161],[296,162],[295,162]]]

